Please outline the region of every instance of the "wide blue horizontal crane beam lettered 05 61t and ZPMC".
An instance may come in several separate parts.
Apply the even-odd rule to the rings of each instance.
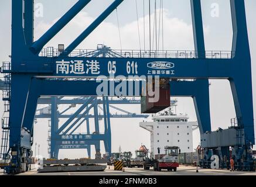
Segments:
[[[214,57],[214,53],[212,54]],[[230,54],[231,56],[231,54]],[[93,58],[93,57],[56,57],[52,62],[49,62],[47,57],[37,57],[37,63],[34,61],[23,61],[22,63],[12,64],[13,73],[30,73],[37,74],[37,77],[58,77],[58,78],[98,78],[99,75],[110,77],[108,72],[108,63],[111,61],[116,62],[116,75],[123,77],[129,76],[155,76],[160,78],[179,78],[179,79],[228,79],[234,76],[234,58]],[[83,61],[84,71],[80,74],[70,71],[71,61]],[[153,74],[156,70],[153,66],[159,65],[156,62],[163,61],[170,65],[168,72]],[[127,66],[132,64],[139,64],[136,68],[137,73],[127,71]],[[99,68],[97,72],[87,71],[90,65],[97,65]],[[156,63],[156,64],[152,64]],[[60,67],[69,68],[63,71]],[[125,66],[125,67],[124,67]],[[39,69],[42,68],[42,70]],[[135,68],[135,67],[134,67]]]

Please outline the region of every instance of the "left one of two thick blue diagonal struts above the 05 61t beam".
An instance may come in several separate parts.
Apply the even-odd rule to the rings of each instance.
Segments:
[[[26,0],[28,1],[28,0]],[[37,54],[43,49],[43,46],[48,43],[60,30],[63,29],[67,23],[70,22],[74,16],[77,15],[91,0],[79,0],[69,11],[67,11],[62,18],[60,18],[43,36],[40,37],[33,45],[30,47],[32,53]]]

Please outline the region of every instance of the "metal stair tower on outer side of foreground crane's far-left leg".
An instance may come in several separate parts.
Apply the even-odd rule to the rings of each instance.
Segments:
[[[4,101],[4,114],[2,116],[2,140],[1,140],[1,152],[0,158],[6,160],[8,154],[8,144],[9,144],[9,111],[10,111],[10,101],[11,101],[11,63],[2,63],[1,73],[4,74],[4,89],[3,101]]]

